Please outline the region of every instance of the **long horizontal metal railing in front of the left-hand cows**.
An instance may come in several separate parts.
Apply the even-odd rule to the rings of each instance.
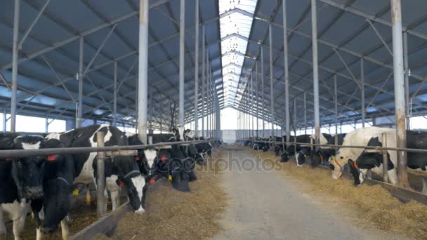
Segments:
[[[122,150],[137,150],[149,147],[164,147],[170,145],[183,145],[183,144],[197,144],[204,142],[213,142],[214,140],[192,140],[192,141],[178,141],[178,142],[159,142],[148,145],[132,145],[132,146],[108,146],[108,147],[58,147],[58,148],[44,148],[44,149],[14,149],[14,150],[0,150],[0,159],[28,157],[28,156],[44,156],[44,155],[58,155],[58,154],[80,154],[88,152],[113,152]]]

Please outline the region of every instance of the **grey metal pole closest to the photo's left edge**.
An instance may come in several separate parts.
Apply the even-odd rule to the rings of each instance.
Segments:
[[[11,93],[11,132],[16,129],[16,92],[18,89],[18,45],[19,45],[20,0],[15,0],[13,13],[13,52],[12,52],[12,93]]]

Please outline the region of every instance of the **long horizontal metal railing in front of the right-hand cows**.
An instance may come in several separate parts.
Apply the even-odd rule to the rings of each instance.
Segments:
[[[240,139],[240,140],[249,140],[250,139]],[[375,146],[354,146],[354,145],[322,145],[322,144],[313,144],[306,142],[281,142],[281,141],[264,141],[264,140],[252,140],[254,142],[265,142],[270,144],[287,144],[287,145],[308,145],[308,146],[317,146],[317,147],[337,147],[337,148],[362,148],[362,149],[374,149],[374,150],[390,150],[390,151],[401,151],[401,152],[417,152],[417,153],[427,153],[427,149],[415,149],[407,147],[375,147]]]

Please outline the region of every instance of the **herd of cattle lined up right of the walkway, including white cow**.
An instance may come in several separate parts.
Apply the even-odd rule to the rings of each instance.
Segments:
[[[386,134],[386,147],[396,147],[396,133],[393,128],[359,128],[347,134],[330,135],[322,133],[320,135],[320,145],[339,145],[341,147],[319,147],[313,151],[311,145],[315,135],[291,136],[287,140],[286,136],[270,138],[251,138],[239,142],[252,149],[263,150],[273,149],[282,162],[289,161],[290,156],[294,156],[297,166],[305,164],[307,156],[311,156],[311,166],[320,164],[331,168],[331,177],[338,179],[345,168],[348,168],[353,175],[355,185],[360,185],[367,178],[367,173],[372,171],[378,175],[383,175],[383,151],[376,149],[352,148],[342,146],[383,146],[383,133]],[[277,142],[298,142],[298,144],[284,144]],[[307,144],[307,145],[304,145]],[[427,149],[427,132],[407,131],[407,148]],[[387,150],[388,159],[388,180],[392,185],[398,184],[397,174],[397,152]],[[407,152],[407,167],[409,173],[421,176],[423,185],[422,193],[427,194],[427,153]]]

